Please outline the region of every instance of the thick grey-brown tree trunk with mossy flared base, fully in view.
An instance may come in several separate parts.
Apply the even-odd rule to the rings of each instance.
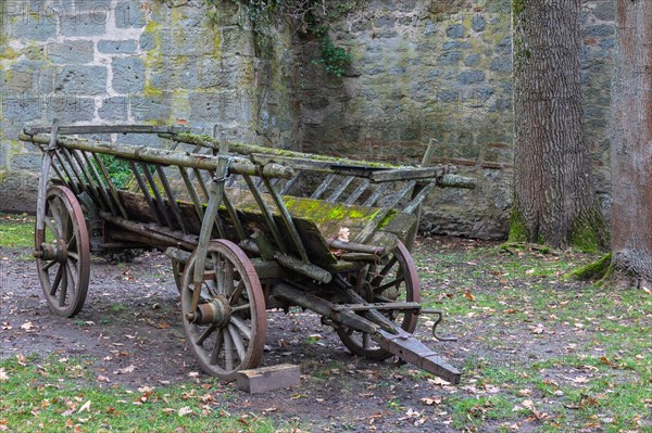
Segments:
[[[581,107],[581,0],[513,0],[511,241],[602,246]]]

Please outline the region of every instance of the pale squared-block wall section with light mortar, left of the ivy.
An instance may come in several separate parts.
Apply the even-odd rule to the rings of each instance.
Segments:
[[[253,35],[230,1],[209,8],[201,0],[7,0],[0,8],[3,211],[35,208],[40,153],[17,135],[54,117],[292,142],[297,116],[284,75],[291,56],[275,58],[287,36],[278,33],[275,51],[256,58]]]

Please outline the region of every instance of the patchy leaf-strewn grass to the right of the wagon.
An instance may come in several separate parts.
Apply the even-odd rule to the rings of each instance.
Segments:
[[[484,353],[467,358],[467,385],[448,399],[455,428],[652,432],[649,294],[565,278],[594,255],[436,250],[416,249],[423,301],[446,313],[443,332],[474,335]]]

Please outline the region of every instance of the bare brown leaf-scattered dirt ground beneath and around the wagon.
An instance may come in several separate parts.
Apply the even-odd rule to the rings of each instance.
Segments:
[[[475,243],[459,241],[449,247],[455,245],[472,247]],[[170,260],[162,254],[148,252],[120,264],[93,258],[86,305],[72,319],[50,313],[28,254],[25,249],[0,249],[0,357],[18,353],[80,357],[91,360],[98,378],[105,378],[100,386],[136,389],[202,380],[185,343],[177,290]],[[473,264],[467,265],[473,269]],[[283,420],[298,419],[314,432],[459,431],[446,406],[437,403],[468,386],[469,378],[464,378],[460,387],[442,386],[409,366],[353,357],[337,334],[310,313],[269,313],[267,317],[264,365],[299,365],[301,386],[250,395],[238,392],[234,384],[216,384],[215,395],[222,396],[215,398],[216,404],[229,413],[264,412]],[[493,349],[478,338],[487,331],[481,320],[448,317],[447,321],[443,331],[456,332],[457,342],[436,342],[424,320],[416,334],[461,369],[473,357],[485,355],[496,362],[515,356],[541,359],[561,353],[566,344],[555,336],[535,344],[528,336],[531,331],[524,327],[505,333],[504,344],[493,345]],[[491,331],[501,339],[500,332]],[[424,403],[427,399],[429,404]],[[537,424],[524,423],[519,431],[535,432]]]

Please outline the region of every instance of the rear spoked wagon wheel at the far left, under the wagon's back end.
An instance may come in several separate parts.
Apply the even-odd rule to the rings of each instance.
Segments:
[[[75,316],[88,293],[90,243],[82,206],[65,187],[48,189],[45,232],[36,231],[35,256],[50,309],[62,317]]]

